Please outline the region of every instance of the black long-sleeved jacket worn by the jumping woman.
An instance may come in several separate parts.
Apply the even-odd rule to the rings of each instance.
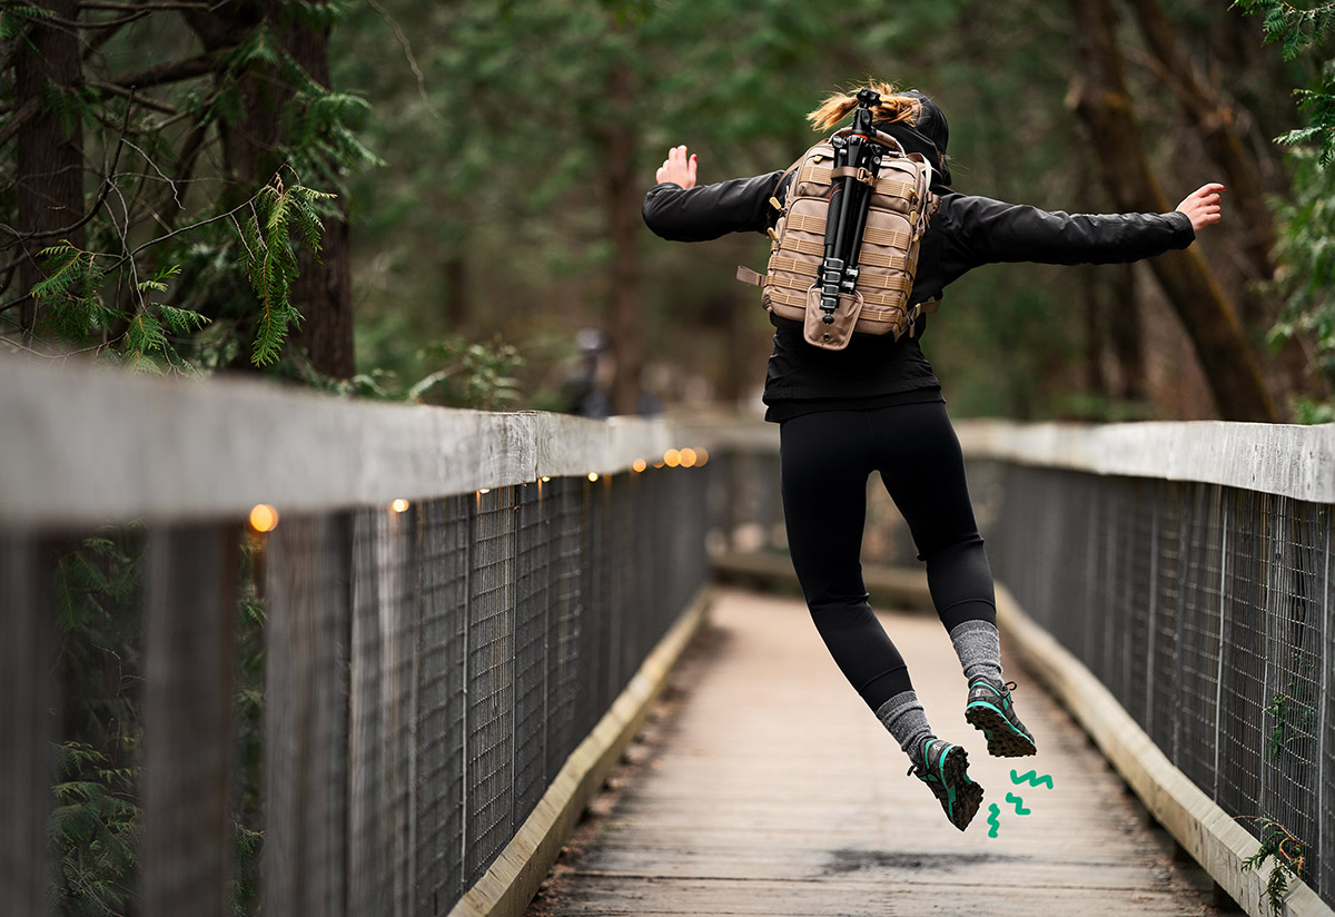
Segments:
[[[777,216],[769,204],[782,171],[684,190],[662,183],[645,195],[645,223],[657,235],[676,242],[705,242],[729,232],[765,232]],[[1195,239],[1185,214],[1071,215],[1036,207],[1007,204],[989,198],[937,188],[941,208],[932,218],[913,282],[909,303],[936,299],[955,279],[981,264],[1036,262],[1043,264],[1109,264],[1135,262]],[[885,403],[888,398],[918,390],[939,390],[918,338],[926,319],[918,319],[912,338],[853,335],[842,351],[808,344],[802,323],[770,315],[774,352],[769,359],[764,400],[769,418],[801,412],[802,404],[821,408],[850,402],[849,407]],[[794,408],[794,404],[797,406]]]

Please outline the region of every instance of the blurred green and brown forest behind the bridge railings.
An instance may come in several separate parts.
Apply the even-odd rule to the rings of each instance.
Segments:
[[[1165,211],[1228,186],[1188,252],[953,284],[924,347],[957,416],[1330,419],[1331,183],[1274,143],[1320,124],[1295,89],[1328,77],[1306,44],[1330,7],[1235,5],[1266,16],[5,0],[0,350],[481,407],[570,410],[595,376],[621,412],[757,410],[770,327],[733,268],[766,240],[666,243],[639,202],[670,144],[702,182],[781,168],[806,111],[878,76],[947,111],[961,192]]]

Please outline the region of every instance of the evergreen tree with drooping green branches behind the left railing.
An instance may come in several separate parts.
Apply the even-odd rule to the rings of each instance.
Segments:
[[[338,13],[4,0],[0,347],[351,376],[342,176],[374,156],[328,85]]]

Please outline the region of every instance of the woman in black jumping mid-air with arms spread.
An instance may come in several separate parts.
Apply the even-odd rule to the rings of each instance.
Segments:
[[[940,210],[918,252],[908,306],[940,296],[967,271],[999,262],[1105,264],[1185,248],[1220,220],[1222,184],[1192,192],[1171,214],[1068,215],[951,191],[945,115],[920,92],[869,88],[881,99],[874,127],[932,166]],[[829,132],[856,107],[830,96],[808,115]],[[663,239],[704,242],[728,232],[766,232],[789,180],[782,170],[696,186],[697,159],[669,149],[645,196],[645,223]],[[1036,753],[1016,715],[1013,682],[1001,674],[992,570],[964,477],[964,456],[941,396],[941,383],[918,340],[926,319],[897,340],[854,334],[830,351],[804,339],[801,322],[773,312],[774,351],[765,376],[766,420],[780,424],[784,519],[793,567],[812,619],[840,670],[912,761],[960,830],[973,818],[983,789],[969,780],[968,754],[940,739],[909,679],[904,658],[877,622],[862,585],[860,553],[866,479],[881,481],[902,513],[926,563],[932,602],[968,681],[965,718],[999,757]]]

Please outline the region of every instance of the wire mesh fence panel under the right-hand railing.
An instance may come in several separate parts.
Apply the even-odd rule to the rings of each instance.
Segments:
[[[1335,902],[1332,507],[1015,465],[972,477],[1000,494],[984,534],[1025,611],[1224,812],[1290,834]]]

